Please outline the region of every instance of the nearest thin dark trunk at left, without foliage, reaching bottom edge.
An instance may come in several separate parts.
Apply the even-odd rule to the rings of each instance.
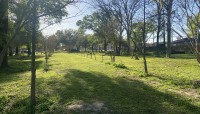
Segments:
[[[35,68],[35,40],[36,40],[36,22],[37,22],[37,11],[36,11],[36,0],[33,1],[33,20],[32,20],[32,61],[31,61],[31,113],[35,113],[35,81],[36,81],[36,68]]]

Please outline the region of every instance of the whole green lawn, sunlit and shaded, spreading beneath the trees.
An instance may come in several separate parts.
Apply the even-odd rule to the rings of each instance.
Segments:
[[[37,113],[200,114],[200,67],[188,56],[147,57],[143,61],[116,57],[116,68],[105,56],[54,53],[44,71],[44,55],[37,55]],[[0,69],[0,113],[30,113],[30,58],[12,57]]]

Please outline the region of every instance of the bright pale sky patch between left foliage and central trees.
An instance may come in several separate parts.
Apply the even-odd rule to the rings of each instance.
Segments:
[[[94,9],[92,9],[88,4],[85,3],[77,3],[76,5],[68,6],[68,17],[64,17],[65,20],[63,20],[61,23],[54,24],[42,30],[42,33],[45,36],[49,36],[54,34],[57,30],[78,29],[78,27],[76,26],[76,22],[78,20],[81,20],[85,15],[91,14],[93,10]],[[40,28],[42,29],[46,26],[46,24],[41,23]],[[90,32],[91,31],[89,31],[88,33]]]

